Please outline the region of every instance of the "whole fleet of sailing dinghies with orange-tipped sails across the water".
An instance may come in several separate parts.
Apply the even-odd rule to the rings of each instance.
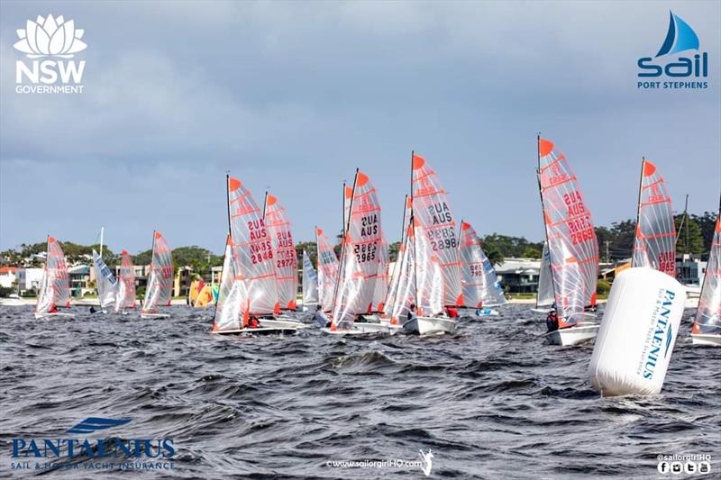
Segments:
[[[548,314],[549,343],[576,345],[597,335],[598,240],[591,213],[569,159],[552,140],[538,141],[538,187],[545,241],[534,312]],[[213,332],[292,333],[305,324],[297,311],[297,252],[286,209],[265,194],[263,207],[238,178],[226,177],[228,235],[220,285],[196,281],[193,307],[215,305]],[[448,194],[425,158],[411,154],[411,188],[403,209],[397,260],[389,271],[381,207],[370,177],[356,169],[342,187],[340,258],[323,229],[315,227],[316,265],[302,256],[304,311],[327,314],[330,335],[377,335],[406,331],[452,333],[466,318],[497,315],[506,303],[496,272],[470,222],[456,222]],[[721,207],[719,210],[721,215]],[[721,220],[707,263],[692,342],[721,343]],[[638,193],[633,267],[675,276],[676,228],[671,196],[658,168],[643,158]],[[103,259],[102,232],[93,268],[101,310],[136,308],[132,258],[123,250],[117,278]],[[142,318],[167,318],[173,288],[168,243],[153,232]],[[68,266],[59,243],[48,237],[47,262],[35,309],[37,318],[72,316]],[[316,313],[317,314],[317,313]],[[321,317],[323,318],[323,317]]]

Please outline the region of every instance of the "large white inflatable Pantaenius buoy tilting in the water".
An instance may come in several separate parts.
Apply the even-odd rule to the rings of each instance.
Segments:
[[[653,268],[617,276],[591,356],[594,388],[606,396],[660,393],[685,302],[683,285]]]

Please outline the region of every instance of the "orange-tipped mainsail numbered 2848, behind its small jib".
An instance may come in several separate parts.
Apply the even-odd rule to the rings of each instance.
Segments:
[[[235,271],[242,274],[253,314],[280,312],[275,258],[263,213],[251,191],[228,177],[228,211],[233,237]]]

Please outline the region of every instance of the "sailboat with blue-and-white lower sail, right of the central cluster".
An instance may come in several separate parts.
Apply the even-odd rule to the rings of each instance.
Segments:
[[[477,316],[498,315],[492,306],[506,303],[496,270],[481,247],[481,241],[469,222],[461,221],[461,285],[466,308]]]

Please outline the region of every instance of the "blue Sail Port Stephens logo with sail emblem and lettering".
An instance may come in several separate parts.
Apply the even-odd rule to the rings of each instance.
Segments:
[[[656,56],[638,59],[636,63],[639,68],[636,88],[707,89],[708,53],[698,50],[698,35],[689,23],[671,11],[669,15],[669,31]]]

